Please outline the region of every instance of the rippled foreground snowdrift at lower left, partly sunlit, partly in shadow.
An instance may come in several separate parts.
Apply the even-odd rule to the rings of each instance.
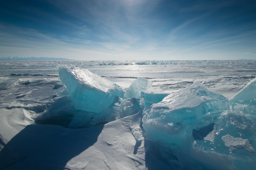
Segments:
[[[136,140],[128,130],[139,122],[140,115],[133,115],[86,129],[23,126],[12,138],[9,135],[1,150],[1,169],[143,169],[143,142],[135,148]]]

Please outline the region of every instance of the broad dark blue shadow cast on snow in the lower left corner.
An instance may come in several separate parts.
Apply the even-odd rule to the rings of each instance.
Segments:
[[[0,151],[0,169],[67,169],[67,162],[92,146],[103,127],[28,125]]]

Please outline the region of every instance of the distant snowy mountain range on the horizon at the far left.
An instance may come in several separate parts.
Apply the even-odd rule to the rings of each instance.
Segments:
[[[75,60],[65,58],[49,58],[49,57],[0,57],[0,61],[60,61],[60,60]]]

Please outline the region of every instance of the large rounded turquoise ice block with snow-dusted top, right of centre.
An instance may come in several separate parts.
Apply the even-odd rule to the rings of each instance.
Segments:
[[[210,92],[204,85],[194,84],[152,104],[144,111],[143,127],[148,138],[178,147],[186,138],[190,124],[228,108],[226,97]]]

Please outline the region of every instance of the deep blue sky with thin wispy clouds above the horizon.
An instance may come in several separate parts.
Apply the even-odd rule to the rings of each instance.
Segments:
[[[256,59],[255,0],[2,0],[0,57]]]

